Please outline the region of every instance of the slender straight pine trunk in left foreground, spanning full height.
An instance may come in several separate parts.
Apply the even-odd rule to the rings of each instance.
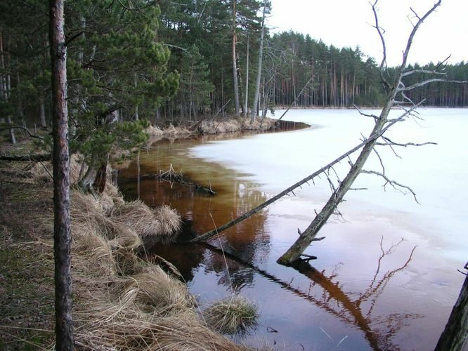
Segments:
[[[56,350],[73,349],[70,230],[70,155],[68,150],[67,48],[64,0],[49,1],[49,42],[53,106],[53,252],[56,285]]]

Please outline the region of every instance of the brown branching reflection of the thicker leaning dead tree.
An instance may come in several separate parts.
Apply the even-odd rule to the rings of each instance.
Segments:
[[[394,253],[402,242],[403,239],[398,241],[397,244],[390,246],[389,249],[384,249],[382,237],[380,240],[381,254],[377,260],[375,274],[365,291],[358,293],[345,292],[342,286],[343,284],[333,282],[338,277],[338,267],[335,267],[334,271],[329,276],[325,275],[325,271],[319,272],[306,262],[298,263],[293,267],[301,274],[311,279],[312,282],[309,286],[308,297],[310,300],[313,300],[313,303],[316,303],[319,307],[323,307],[327,312],[339,317],[339,319],[358,326],[359,329],[365,333],[365,338],[373,349],[389,350],[395,347],[391,343],[391,338],[393,338],[410,319],[424,317],[421,314],[415,313],[372,315],[377,300],[384,292],[386,285],[396,273],[404,270],[412,259],[412,254],[416,246],[411,250],[408,259],[403,265],[393,270],[382,272],[382,260],[390,256],[391,253]],[[320,286],[321,293],[318,295],[313,294],[312,298],[311,292],[313,293],[315,290],[314,288],[317,286]],[[353,296],[357,297],[353,298]]]

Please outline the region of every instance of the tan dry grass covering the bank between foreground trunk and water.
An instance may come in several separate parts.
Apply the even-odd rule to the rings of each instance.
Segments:
[[[108,196],[117,197],[115,189]],[[185,284],[134,253],[141,244],[136,231],[171,236],[180,225],[176,213],[169,206],[152,210],[140,201],[113,204],[108,213],[102,198],[72,192],[77,345],[85,350],[245,350],[200,321]]]

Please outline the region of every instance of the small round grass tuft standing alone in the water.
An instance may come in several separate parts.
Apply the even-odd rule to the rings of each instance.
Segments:
[[[205,322],[216,331],[226,334],[245,333],[256,325],[259,317],[254,303],[242,296],[217,301],[203,311]]]

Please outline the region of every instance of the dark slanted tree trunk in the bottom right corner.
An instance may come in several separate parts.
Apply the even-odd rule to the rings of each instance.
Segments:
[[[467,266],[465,266],[467,267]],[[458,296],[448,318],[446,329],[438,339],[436,351],[464,350],[468,339],[468,276],[465,277]]]

